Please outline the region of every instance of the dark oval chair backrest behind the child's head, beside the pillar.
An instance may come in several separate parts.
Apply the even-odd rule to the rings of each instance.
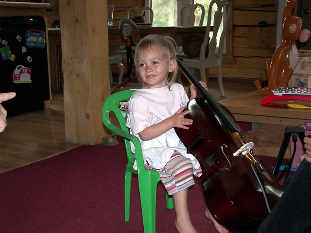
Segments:
[[[140,41],[140,35],[136,24],[129,18],[121,18],[119,22],[121,42],[125,46],[133,46]]]

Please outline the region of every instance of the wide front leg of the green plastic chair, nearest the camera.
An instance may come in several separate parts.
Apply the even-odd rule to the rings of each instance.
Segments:
[[[139,180],[139,178],[138,178]],[[146,179],[145,179],[146,180]],[[142,220],[144,224],[144,233],[155,233],[155,199],[156,199],[156,183],[148,182],[138,184],[140,193],[140,204],[142,212]],[[140,185],[143,186],[140,188]]]

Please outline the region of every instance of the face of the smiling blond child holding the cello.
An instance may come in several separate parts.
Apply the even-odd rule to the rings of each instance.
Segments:
[[[138,73],[146,83],[144,88],[159,88],[166,86],[169,72],[175,69],[175,60],[168,61],[160,52],[159,46],[152,46],[150,50],[142,50],[137,54]],[[172,65],[173,64],[173,65]]]

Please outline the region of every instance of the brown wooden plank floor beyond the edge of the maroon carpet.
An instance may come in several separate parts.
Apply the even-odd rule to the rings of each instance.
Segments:
[[[124,89],[136,87],[137,83],[133,82]],[[217,85],[209,84],[208,88],[217,101],[255,90],[254,86],[225,85],[226,96],[221,98]],[[0,133],[0,173],[78,146],[65,143],[63,93],[53,92],[50,109],[8,117],[7,128]]]

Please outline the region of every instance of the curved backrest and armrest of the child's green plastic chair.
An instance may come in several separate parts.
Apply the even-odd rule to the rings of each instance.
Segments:
[[[138,145],[140,147],[139,139],[129,133],[129,129],[126,126],[126,114],[127,114],[127,102],[136,90],[125,90],[112,94],[109,96],[103,107],[103,122],[104,125],[112,132],[121,135],[125,139],[125,149],[127,154],[128,163],[133,163],[135,160],[134,154],[131,152],[130,140],[138,140]],[[113,112],[117,117],[119,125],[114,125],[110,121],[110,113]],[[141,149],[140,149],[141,150]]]

